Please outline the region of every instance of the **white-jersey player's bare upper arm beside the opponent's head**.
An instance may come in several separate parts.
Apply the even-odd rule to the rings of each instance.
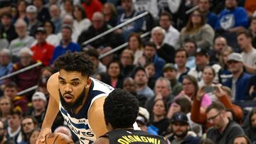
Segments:
[[[103,104],[105,101],[105,96],[96,99],[89,109],[88,121],[92,132],[95,133],[96,137],[99,138],[101,135],[107,133],[107,127],[105,124]]]

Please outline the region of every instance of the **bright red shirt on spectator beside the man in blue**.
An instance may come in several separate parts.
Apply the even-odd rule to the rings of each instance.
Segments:
[[[34,45],[31,48],[33,52],[33,60],[40,60],[43,65],[48,66],[51,57],[53,57],[54,46],[48,43],[43,43],[41,45]]]

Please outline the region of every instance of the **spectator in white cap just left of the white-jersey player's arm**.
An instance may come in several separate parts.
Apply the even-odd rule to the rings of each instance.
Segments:
[[[32,96],[32,105],[33,110],[31,113],[29,113],[30,116],[33,116],[36,118],[36,121],[38,121],[38,126],[41,127],[43,123],[43,118],[46,115],[46,104],[47,99],[45,94],[42,92],[35,92]]]

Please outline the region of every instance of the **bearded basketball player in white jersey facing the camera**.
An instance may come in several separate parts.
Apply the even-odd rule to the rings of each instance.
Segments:
[[[92,61],[84,53],[67,53],[58,57],[54,65],[59,72],[48,79],[50,100],[37,143],[45,141],[45,136],[51,133],[59,111],[80,143],[92,143],[107,132],[103,104],[114,89],[90,77]]]

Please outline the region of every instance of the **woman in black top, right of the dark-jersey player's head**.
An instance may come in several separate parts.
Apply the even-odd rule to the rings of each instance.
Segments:
[[[170,124],[169,118],[166,118],[167,105],[163,99],[156,99],[153,105],[153,121],[151,124],[159,129],[159,135],[166,135],[166,130]]]

